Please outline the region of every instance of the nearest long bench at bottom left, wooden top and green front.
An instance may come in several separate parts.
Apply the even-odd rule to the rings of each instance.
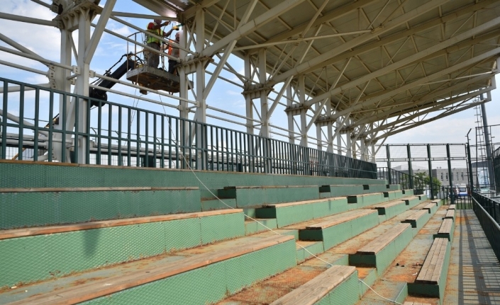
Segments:
[[[210,304],[294,267],[294,252],[293,236],[242,237],[24,285],[4,291],[0,299],[5,304]]]

